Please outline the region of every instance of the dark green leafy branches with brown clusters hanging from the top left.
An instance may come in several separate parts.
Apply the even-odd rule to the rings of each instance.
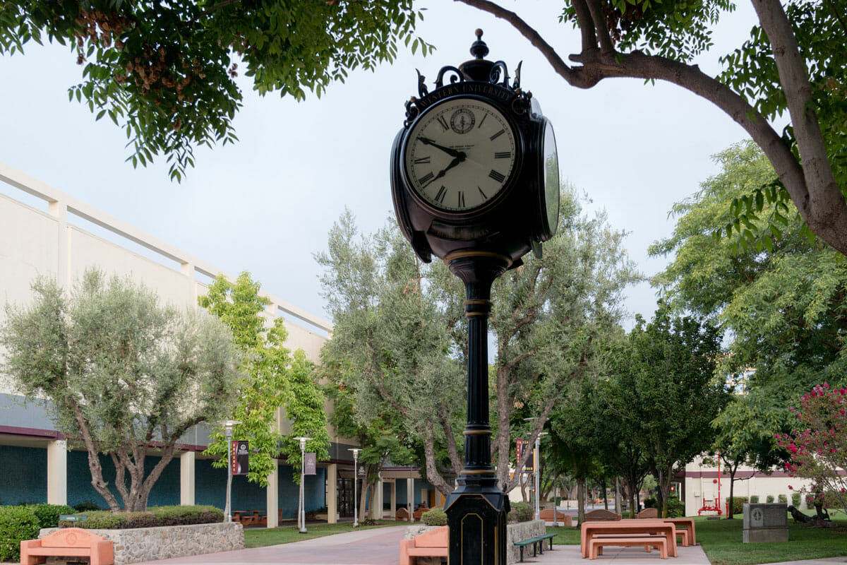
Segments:
[[[239,64],[260,94],[299,100],[393,60],[400,40],[430,48],[413,37],[421,14],[411,0],[29,0],[0,3],[0,14],[0,53],[45,38],[69,45],[85,65],[69,97],[126,130],[134,166],[162,154],[176,180],[194,165],[194,147],[237,140]]]

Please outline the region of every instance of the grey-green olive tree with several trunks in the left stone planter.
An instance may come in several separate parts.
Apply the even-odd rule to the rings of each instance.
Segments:
[[[152,291],[94,269],[70,296],[47,279],[32,290],[29,307],[6,309],[5,373],[28,399],[44,399],[70,446],[86,448],[91,485],[113,511],[121,505],[101,453],[114,463],[124,509],[145,510],[180,437],[230,411],[232,335],[217,319],[161,307]],[[151,451],[160,457],[146,473]]]

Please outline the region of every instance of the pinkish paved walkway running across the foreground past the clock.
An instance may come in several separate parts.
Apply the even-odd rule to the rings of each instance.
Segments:
[[[280,546],[257,547],[238,551],[209,553],[194,557],[175,557],[146,565],[202,565],[227,563],[228,565],[397,565],[400,557],[400,540],[406,526],[365,529],[346,534],[328,535],[313,540],[296,541]],[[656,551],[647,553],[638,547],[606,547],[596,561],[583,560],[579,546],[553,546],[543,555],[524,557],[526,563],[539,565],[710,565],[700,546],[678,546],[678,557],[663,561]],[[530,554],[532,550],[529,550]],[[829,557],[773,565],[847,565],[847,557]]]

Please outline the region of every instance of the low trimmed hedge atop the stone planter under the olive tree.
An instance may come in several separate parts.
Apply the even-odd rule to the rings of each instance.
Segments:
[[[192,523],[224,521],[224,511],[210,506],[151,507],[147,512],[86,512],[82,522],[59,522],[60,528],[130,529],[156,528],[158,526],[184,526]]]

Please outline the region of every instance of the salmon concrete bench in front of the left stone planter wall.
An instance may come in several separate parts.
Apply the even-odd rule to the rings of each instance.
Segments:
[[[112,565],[114,547],[110,540],[82,528],[64,528],[40,540],[21,540],[20,565],[36,565],[47,557],[89,557],[91,565]]]

